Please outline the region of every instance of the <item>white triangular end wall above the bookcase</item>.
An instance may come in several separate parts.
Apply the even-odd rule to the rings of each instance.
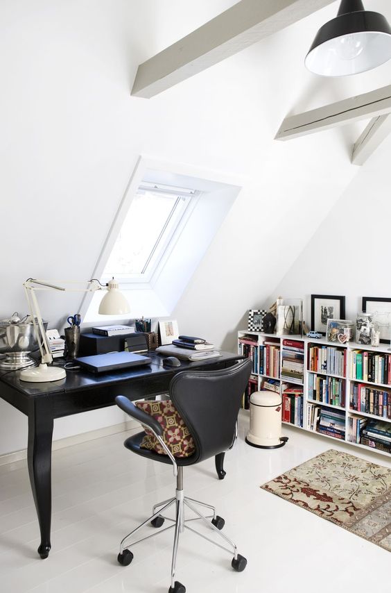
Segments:
[[[356,319],[362,297],[391,298],[391,137],[374,153],[281,280],[273,297],[311,294],[346,297],[346,318]]]

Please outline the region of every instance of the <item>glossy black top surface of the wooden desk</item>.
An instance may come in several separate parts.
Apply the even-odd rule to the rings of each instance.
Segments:
[[[243,356],[239,356],[238,354],[221,352],[221,356],[218,358],[209,358],[194,362],[180,360],[180,367],[168,368],[163,367],[163,357],[159,356],[159,354],[148,352],[148,356],[152,358],[152,362],[150,365],[144,367],[121,369],[99,375],[89,373],[85,370],[67,370],[66,378],[60,379],[60,381],[51,381],[50,383],[28,383],[20,380],[20,371],[0,371],[0,383],[6,383],[19,393],[24,394],[24,396],[49,395],[60,392],[94,389],[94,387],[103,387],[111,383],[142,381],[149,377],[158,377],[162,374],[176,374],[178,371],[187,369],[205,369],[209,365],[216,365],[221,362],[234,362],[243,358]]]

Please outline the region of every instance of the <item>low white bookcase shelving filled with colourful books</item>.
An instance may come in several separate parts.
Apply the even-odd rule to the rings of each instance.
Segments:
[[[284,378],[284,375],[282,374],[282,364],[284,360],[284,340],[293,340],[295,342],[302,342],[304,344],[303,381],[300,381],[297,378],[290,378],[290,380],[288,380]],[[245,346],[246,343],[247,346]],[[261,358],[261,349],[259,348],[259,346],[264,346],[266,343],[275,344],[276,351],[279,350],[278,365],[272,365],[271,370],[269,365],[269,373],[266,373],[266,369],[261,369],[259,365]],[[336,349],[338,349],[338,352],[341,353],[341,356],[345,357],[345,365],[342,367],[340,366],[339,369],[336,365],[333,365],[333,367],[328,367],[327,369],[311,370],[311,347],[313,346],[335,346]],[[281,395],[283,391],[281,389],[281,385],[284,385],[284,383],[288,383],[289,387],[295,387],[295,385],[302,386],[304,393],[304,403],[302,409],[302,426],[297,426],[295,424],[289,423],[290,426],[297,426],[297,428],[301,430],[313,432],[313,430],[311,430],[311,426],[309,426],[309,421],[311,419],[311,406],[322,406],[322,408],[333,408],[334,410],[340,410],[345,415],[344,442],[347,442],[352,446],[365,449],[367,451],[375,451],[376,453],[380,453],[388,457],[390,457],[390,453],[388,453],[387,451],[381,451],[380,449],[374,449],[373,447],[367,446],[365,444],[351,442],[349,440],[349,438],[351,438],[351,421],[349,421],[349,418],[367,417],[370,419],[378,419],[382,422],[391,423],[390,418],[371,414],[370,412],[356,411],[351,408],[351,393],[355,389],[355,386],[357,386],[358,388],[358,385],[368,385],[368,388],[372,390],[385,390],[391,393],[391,382],[374,383],[374,381],[365,381],[363,379],[358,379],[352,376],[354,357],[356,356],[357,351],[360,351],[362,353],[368,353],[368,355],[365,354],[363,356],[370,356],[371,353],[390,355],[391,351],[388,350],[389,347],[390,346],[388,346],[387,344],[381,344],[379,348],[374,348],[372,346],[365,346],[364,344],[356,344],[355,342],[349,342],[348,344],[333,344],[331,342],[327,342],[327,340],[325,339],[314,340],[309,337],[301,337],[298,335],[276,335],[246,330],[238,331],[238,353],[243,355],[245,353],[243,352],[243,349],[246,348],[247,356],[250,356],[253,360],[253,369],[251,377],[251,381],[254,386],[253,390],[262,390],[263,382],[266,381],[268,378],[272,378],[275,381],[279,382],[279,392]],[[339,370],[339,372],[337,372],[337,369]],[[335,385],[336,382],[340,383],[341,388],[338,399],[336,399],[336,397],[334,396],[333,401],[330,402],[319,401],[319,399],[312,399],[311,382],[315,380],[315,376],[324,378],[325,381],[334,382],[333,385]],[[376,380],[379,381],[377,372]],[[318,397],[318,392],[316,396]],[[341,441],[341,439],[318,433],[318,431],[317,434],[324,438],[333,439],[339,442]]]

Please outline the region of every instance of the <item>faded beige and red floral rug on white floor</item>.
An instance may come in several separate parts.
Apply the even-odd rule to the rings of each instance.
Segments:
[[[391,551],[391,469],[330,449],[263,490]]]

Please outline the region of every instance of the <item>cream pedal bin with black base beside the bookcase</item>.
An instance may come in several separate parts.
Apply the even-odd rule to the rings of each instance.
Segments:
[[[259,449],[278,449],[288,437],[281,437],[281,395],[256,391],[250,396],[250,431],[245,442]]]

